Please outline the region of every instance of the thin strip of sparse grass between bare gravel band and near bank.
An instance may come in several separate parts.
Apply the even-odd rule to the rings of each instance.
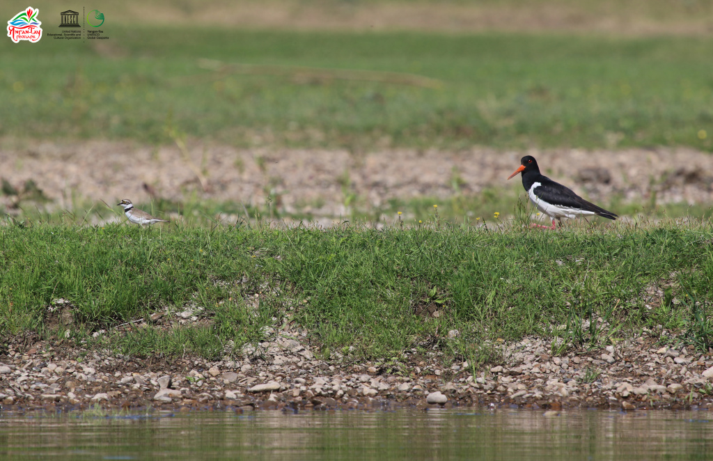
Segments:
[[[434,205],[438,207],[438,218],[442,222],[452,224],[483,223],[493,221],[495,213],[502,219],[513,218],[518,214],[518,206],[527,201],[520,183],[513,183],[511,188],[486,188],[478,196],[463,195],[453,188],[452,195],[445,198],[420,197],[406,200],[389,199],[379,206],[370,203],[366,197],[344,192],[342,203],[347,209],[344,216],[323,216],[314,208],[319,203],[302,203],[293,210],[285,211],[277,204],[277,197],[268,197],[268,201],[260,206],[244,206],[235,201],[211,201],[190,198],[186,201],[170,201],[158,199],[150,203],[135,203],[135,205],[160,218],[180,222],[181,226],[189,228],[235,225],[236,223],[255,223],[262,218],[275,222],[311,223],[368,223],[370,226],[414,226],[422,221],[427,223],[435,216]],[[0,218],[12,219],[17,223],[31,225],[32,223],[51,223],[54,225],[104,225],[108,222],[125,222],[123,211],[113,203],[93,203],[86,200],[73,201],[71,211],[61,210],[50,204],[43,203],[35,196],[21,196],[18,200],[19,209],[8,211],[0,209]],[[630,221],[661,218],[692,218],[706,220],[713,217],[713,208],[709,205],[686,203],[669,203],[660,205],[655,202],[633,203],[624,202],[620,196],[612,196],[609,201],[597,201],[604,208],[614,210],[620,218]],[[109,206],[107,206],[109,205]],[[401,215],[399,215],[399,212]],[[530,206],[528,211],[533,219],[544,219],[536,216],[537,210]],[[645,218],[644,218],[645,217]],[[596,222],[598,218],[590,219]],[[545,220],[546,221],[546,220]],[[605,222],[605,219],[598,219]],[[549,224],[549,221],[546,222]]]

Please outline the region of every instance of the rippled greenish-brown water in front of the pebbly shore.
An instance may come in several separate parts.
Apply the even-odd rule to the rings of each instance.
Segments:
[[[577,410],[153,412],[115,417],[0,414],[0,457],[191,460],[354,458],[695,460],[713,414]]]

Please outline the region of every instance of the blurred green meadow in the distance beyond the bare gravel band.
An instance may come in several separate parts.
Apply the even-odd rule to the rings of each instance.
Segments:
[[[713,148],[711,38],[113,26],[105,45],[46,38],[29,53],[0,41],[0,136],[170,143],[169,128],[237,146],[356,153]],[[202,59],[257,67],[220,73]],[[333,74],[344,70],[380,81]],[[394,76],[384,72],[441,86],[386,83]]]

